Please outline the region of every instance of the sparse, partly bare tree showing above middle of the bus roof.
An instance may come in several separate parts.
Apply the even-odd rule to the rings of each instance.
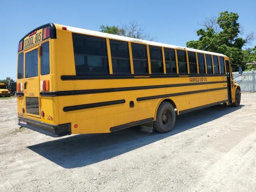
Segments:
[[[155,37],[152,37],[149,33],[144,32],[144,28],[142,27],[142,25],[138,24],[135,21],[129,22],[128,24],[121,24],[121,26],[101,25],[100,32],[121,35],[136,39],[144,39],[149,41],[156,40]]]

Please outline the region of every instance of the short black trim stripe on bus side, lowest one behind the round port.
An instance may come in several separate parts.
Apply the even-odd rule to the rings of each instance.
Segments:
[[[84,104],[84,105],[68,106],[68,107],[64,107],[63,111],[68,112],[68,111],[95,108],[95,107],[102,107],[102,106],[108,106],[108,105],[116,105],[116,104],[122,104],[122,103],[125,103],[124,99],[115,100],[115,101],[106,101],[106,102],[99,102],[99,103]]]

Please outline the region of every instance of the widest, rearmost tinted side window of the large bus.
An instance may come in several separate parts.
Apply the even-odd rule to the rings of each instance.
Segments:
[[[72,34],[77,75],[108,74],[106,39]]]

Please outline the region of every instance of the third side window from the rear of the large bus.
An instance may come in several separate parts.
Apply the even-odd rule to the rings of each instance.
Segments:
[[[148,73],[148,54],[144,44],[132,43],[134,74]]]

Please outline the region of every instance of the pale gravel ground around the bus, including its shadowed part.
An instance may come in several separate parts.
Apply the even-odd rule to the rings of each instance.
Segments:
[[[16,113],[0,100],[0,192],[256,191],[256,93],[180,115],[168,134],[52,138],[19,130]]]

